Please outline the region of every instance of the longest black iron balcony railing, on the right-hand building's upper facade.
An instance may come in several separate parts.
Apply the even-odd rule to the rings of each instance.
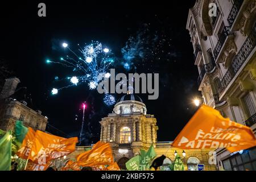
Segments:
[[[227,88],[229,83],[233,80],[234,76],[236,76],[236,73],[240,70],[243,63],[245,63],[245,61],[247,60],[248,56],[250,55],[251,51],[253,51],[255,46],[256,46],[256,23],[254,24],[253,31],[247,37],[247,39],[245,40],[245,43],[243,43],[243,46],[241,47],[237,55],[234,57],[232,64],[230,65],[228,71],[222,78],[221,86],[218,90],[220,95],[224,92],[224,90]]]

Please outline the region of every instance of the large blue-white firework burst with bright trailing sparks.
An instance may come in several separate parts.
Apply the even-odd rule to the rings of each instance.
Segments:
[[[66,56],[60,57],[59,61],[46,60],[46,63],[55,63],[63,65],[64,67],[72,68],[73,72],[77,73],[77,76],[68,77],[68,80],[72,85],[66,85],[59,89],[52,89],[52,94],[57,94],[59,90],[68,88],[69,86],[76,86],[77,84],[88,84],[89,89],[93,90],[97,88],[98,83],[104,78],[109,78],[110,73],[108,69],[114,62],[111,57],[111,51],[108,48],[102,48],[102,44],[99,42],[93,42],[85,44],[82,48],[79,45],[79,53],[72,51],[67,43],[63,43],[62,46],[67,48],[73,54],[73,57]],[[102,79],[99,78],[102,76]]]

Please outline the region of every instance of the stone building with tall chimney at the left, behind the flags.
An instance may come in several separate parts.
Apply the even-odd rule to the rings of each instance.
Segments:
[[[19,78],[7,78],[0,94],[0,129],[9,131],[14,129],[17,120],[23,121],[24,126],[34,130],[46,130],[48,118],[42,111],[33,110],[30,96],[25,87],[17,86]]]

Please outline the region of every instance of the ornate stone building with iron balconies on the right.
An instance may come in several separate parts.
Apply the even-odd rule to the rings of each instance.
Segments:
[[[255,0],[198,0],[189,10],[187,21],[199,71],[197,84],[204,104],[232,121],[251,127],[254,133],[255,22]],[[216,152],[219,169],[256,170],[255,148],[236,154],[224,148]]]

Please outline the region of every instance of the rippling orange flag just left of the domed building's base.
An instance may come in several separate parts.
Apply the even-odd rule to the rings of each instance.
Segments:
[[[77,156],[79,166],[101,166],[110,165],[114,162],[112,148],[109,143],[97,142],[91,150],[83,152]]]

